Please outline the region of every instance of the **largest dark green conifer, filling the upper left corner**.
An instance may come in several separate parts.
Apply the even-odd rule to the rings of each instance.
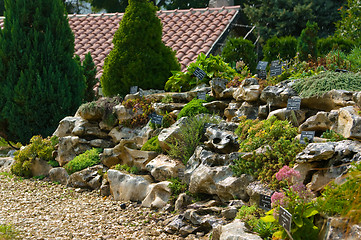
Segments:
[[[73,115],[85,82],[61,0],[5,0],[0,35],[0,134],[26,143]]]

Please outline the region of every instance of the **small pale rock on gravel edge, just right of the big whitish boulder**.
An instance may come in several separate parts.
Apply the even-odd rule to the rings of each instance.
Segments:
[[[149,192],[142,202],[143,207],[163,208],[169,201],[172,191],[168,187],[170,182],[164,181],[151,185]]]

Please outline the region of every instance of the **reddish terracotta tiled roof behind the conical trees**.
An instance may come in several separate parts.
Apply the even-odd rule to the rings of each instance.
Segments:
[[[163,23],[163,42],[176,51],[184,70],[200,53],[208,55],[220,39],[228,34],[238,17],[239,6],[188,10],[158,11]],[[104,59],[112,50],[113,35],[123,13],[69,15],[75,35],[75,54],[83,60],[91,53],[97,66],[97,77],[103,72]],[[0,19],[3,27],[3,18]]]

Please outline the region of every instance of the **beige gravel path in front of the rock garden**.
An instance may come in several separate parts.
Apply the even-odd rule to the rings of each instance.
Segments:
[[[0,224],[12,224],[21,239],[183,239],[163,232],[169,213],[120,205],[95,191],[21,179],[0,168]]]

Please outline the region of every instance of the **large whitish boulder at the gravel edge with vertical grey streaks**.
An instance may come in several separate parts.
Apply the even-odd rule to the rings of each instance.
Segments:
[[[150,182],[117,170],[108,171],[110,191],[117,201],[143,201],[150,190]]]

